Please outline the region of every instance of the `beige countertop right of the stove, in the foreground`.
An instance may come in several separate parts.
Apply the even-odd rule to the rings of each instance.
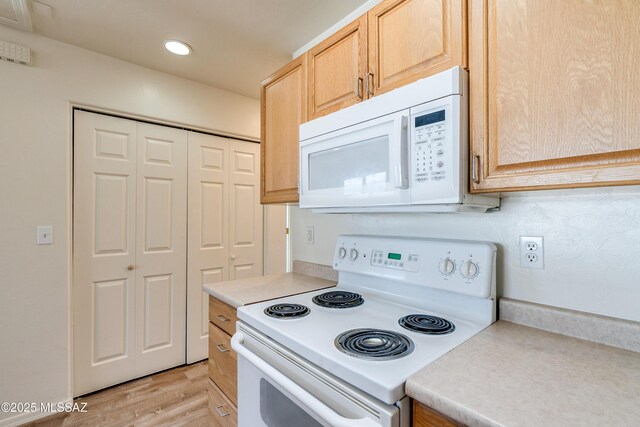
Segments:
[[[406,391],[470,426],[637,426],[640,353],[499,321]]]

